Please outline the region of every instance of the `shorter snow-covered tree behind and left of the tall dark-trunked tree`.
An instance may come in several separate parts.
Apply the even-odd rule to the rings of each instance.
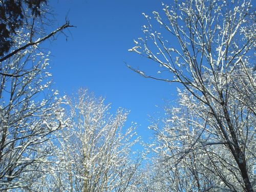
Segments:
[[[154,181],[163,182],[162,189],[168,186],[174,191],[230,190],[227,185],[233,191],[243,190],[236,161],[223,147],[215,120],[193,96],[187,92],[179,96],[179,105],[166,107],[166,117],[151,126],[156,132],[156,141],[151,145],[156,154]],[[255,126],[252,121],[248,124]],[[253,140],[248,143],[250,152],[246,154],[252,181],[254,157],[250,153],[254,145]]]

